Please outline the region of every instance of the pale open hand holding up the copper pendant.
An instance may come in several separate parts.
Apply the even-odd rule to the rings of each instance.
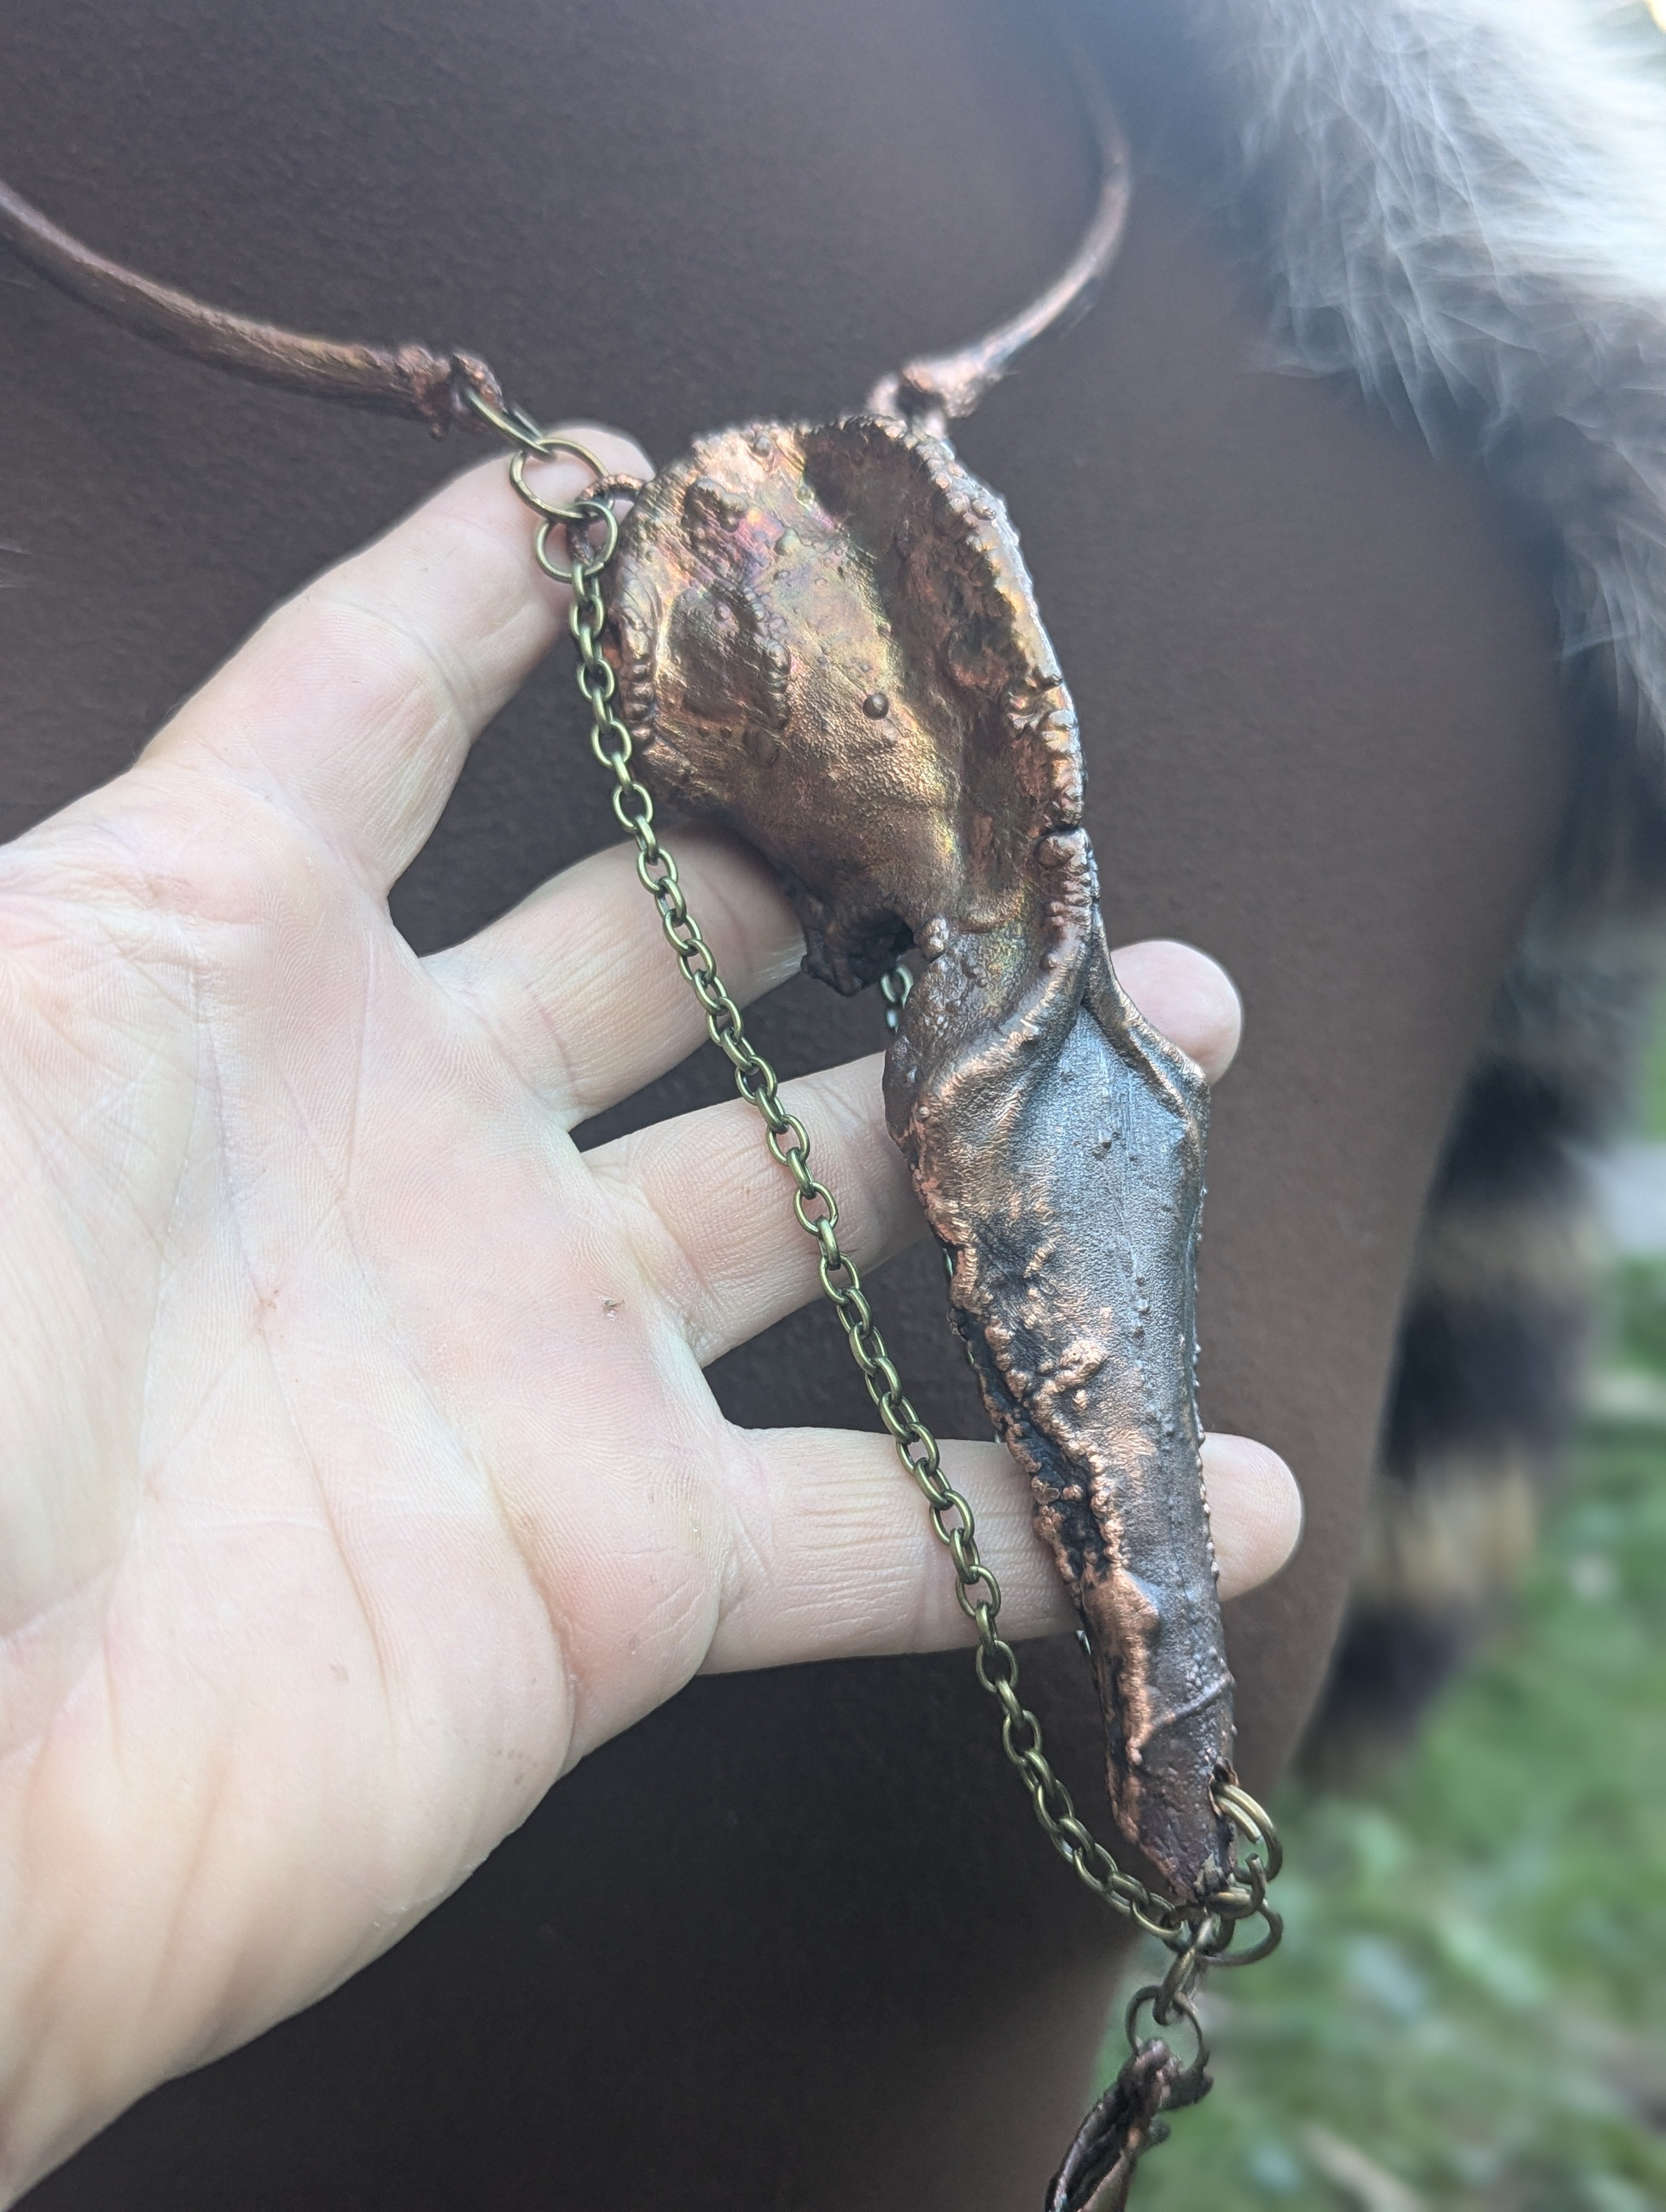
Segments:
[[[816,1296],[750,1108],[569,1139],[704,1035],[633,856],[431,960],[389,922],[562,619],[471,471],[0,852],[7,2194],[374,1958],[701,1668],[969,1635],[885,1436],[735,1429],[704,1383]],[[675,843],[735,995],[792,973],[768,874]],[[1224,1073],[1212,962],[1117,969]],[[878,1060],[783,1095],[883,1261],[918,1212]],[[945,1464],[1007,1630],[1069,1626],[1009,1455]],[[1206,1473],[1232,1595],[1297,1493],[1239,1438]]]

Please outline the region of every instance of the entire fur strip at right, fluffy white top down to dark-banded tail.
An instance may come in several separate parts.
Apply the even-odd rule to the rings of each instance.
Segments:
[[[1555,582],[1578,787],[1429,1197],[1321,1739],[1405,1723],[1578,1400],[1586,1161],[1666,947],[1666,40],[1642,0],[1179,0],[1285,365],[1482,458]]]

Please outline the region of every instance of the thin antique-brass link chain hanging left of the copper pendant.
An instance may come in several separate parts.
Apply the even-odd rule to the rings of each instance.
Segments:
[[[1237,1829],[1248,1856],[1232,1887],[1212,1893],[1208,1905],[1181,1905],[1124,1874],[1077,1816],[1071,1792],[1047,1759],[1042,1723],[1018,1694],[1018,1652],[1000,1632],[1000,1582],[978,1551],[971,1506],[943,1473],[938,1440],[903,1389],[903,1378],[892,1365],[867,1303],[861,1272],[839,1241],[839,1201],[810,1166],[810,1135],[803,1121],[781,1104],[774,1068],[746,1035],[741,1009],[717,971],[699,922],[688,911],[677,863],[659,843],[653,794],[635,772],[635,741],[615,712],[615,675],[602,650],[606,626],[602,571],[617,542],[613,507],[600,498],[573,502],[573,520],[560,522],[566,529],[569,546],[569,566],[562,568],[549,555],[549,533],[558,524],[551,522],[542,502],[535,502],[531,493],[524,495],[544,515],[538,531],[540,564],[562,582],[571,580],[573,586],[569,628],[577,646],[577,688],[591,714],[591,750],[613,776],[613,812],[619,827],[635,841],[637,876],[659,909],[666,942],[706,1013],[712,1044],[730,1064],[735,1088],[757,1108],[770,1152],[792,1177],[792,1210],[799,1228],[816,1243],[821,1287],[839,1316],[874,1411],[885,1425],[903,1469],[923,1491],[931,1526],[949,1553],[956,1599],[978,1635],[973,1668],[980,1686],[1000,1708],[1000,1745],[1029,1792],[1042,1834],[1075,1878],[1104,1905],[1137,1922],[1175,1953],[1166,1980],[1148,1991],[1155,2017],[1166,2022],[1177,2011],[1188,2013],[1186,2000],[1204,1966],[1250,1964],[1252,1958],[1263,1958],[1279,1942],[1281,1922],[1266,1902],[1268,1882],[1279,1871],[1279,1838],[1272,1823],[1235,1783],[1221,1785],[1217,1805]],[[889,1026],[896,1026],[900,1018],[909,984],[909,971],[900,964],[881,982]],[[1232,1953],[1232,1936],[1243,1920],[1263,1920],[1266,1936],[1252,1951]]]

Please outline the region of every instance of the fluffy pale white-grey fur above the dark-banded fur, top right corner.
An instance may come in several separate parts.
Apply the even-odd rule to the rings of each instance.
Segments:
[[[1560,544],[1666,759],[1666,40],[1595,0],[1186,0],[1285,334]]]

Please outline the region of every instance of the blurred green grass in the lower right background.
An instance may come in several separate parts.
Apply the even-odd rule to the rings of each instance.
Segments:
[[[1666,1378],[1666,1272],[1615,1303]],[[1217,2088],[1142,2212],[1666,2208],[1666,1427],[1586,1431],[1409,1765],[1279,1820],[1285,1944],[1210,1984]],[[1363,2179],[1325,2179],[1334,2139]]]

